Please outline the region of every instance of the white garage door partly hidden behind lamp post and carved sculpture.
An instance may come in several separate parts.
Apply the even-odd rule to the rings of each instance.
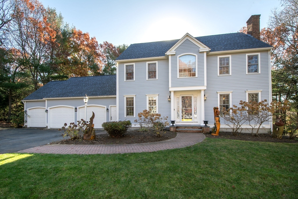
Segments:
[[[98,107],[98,106],[87,106],[87,121],[90,120],[92,116],[92,111],[94,112],[95,118],[93,120],[94,128],[96,129],[102,129],[101,126],[104,122],[106,122],[106,115],[105,115],[105,107]],[[85,118],[85,107],[79,108],[79,118],[84,119]]]

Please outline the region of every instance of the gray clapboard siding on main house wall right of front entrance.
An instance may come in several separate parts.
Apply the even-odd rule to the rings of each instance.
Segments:
[[[217,92],[233,91],[232,105],[236,106],[240,100],[246,101],[246,90],[262,90],[261,100],[270,98],[268,51],[260,52],[260,74],[246,75],[246,53],[235,53],[231,56],[232,75],[217,76],[217,56],[207,55],[205,120],[209,120],[210,125],[214,122],[213,107],[218,106]]]

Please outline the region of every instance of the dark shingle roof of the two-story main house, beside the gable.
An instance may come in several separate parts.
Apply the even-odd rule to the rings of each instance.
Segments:
[[[229,33],[195,38],[211,48],[210,52],[271,47],[269,44],[245,33]],[[164,53],[177,41],[179,39],[131,44],[116,60],[164,56]]]

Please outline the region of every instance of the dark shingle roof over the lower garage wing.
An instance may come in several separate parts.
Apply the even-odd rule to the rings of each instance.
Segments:
[[[116,75],[72,77],[66,81],[50,81],[24,100],[116,95]]]

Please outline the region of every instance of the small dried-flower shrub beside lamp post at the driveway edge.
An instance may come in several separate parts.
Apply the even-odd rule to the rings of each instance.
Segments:
[[[72,122],[69,124],[68,128],[66,128],[67,124],[65,123],[61,128],[64,130],[63,138],[69,136],[72,140],[82,139],[87,124],[88,122],[81,119],[81,121],[77,121],[77,124]],[[61,129],[59,129],[59,131],[61,131]]]

